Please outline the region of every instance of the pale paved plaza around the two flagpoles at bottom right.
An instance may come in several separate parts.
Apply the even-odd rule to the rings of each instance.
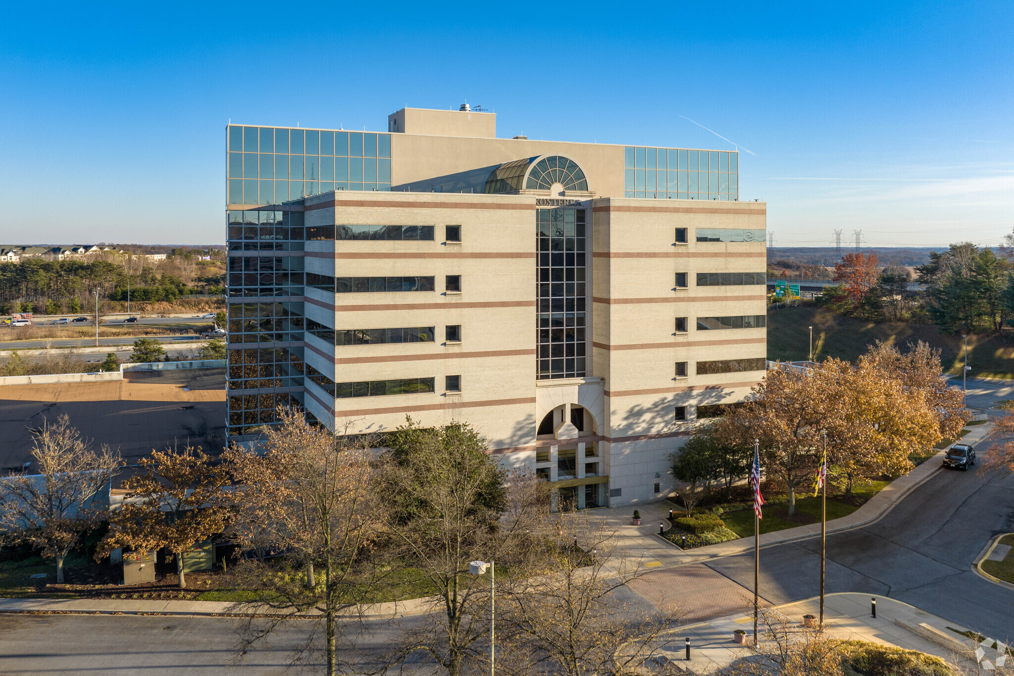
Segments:
[[[870,613],[871,598],[869,594],[854,592],[827,594],[824,597],[824,626],[830,635],[922,651],[949,662],[960,661],[964,666],[975,667],[974,659],[969,659],[975,649],[973,642],[948,628],[966,631],[967,627],[884,596],[875,597],[877,616],[874,618]],[[819,616],[819,598],[775,608],[798,625],[804,614]],[[672,629],[666,632],[668,643],[662,654],[696,674],[712,673],[749,654],[734,643],[735,629],[746,631],[749,641],[753,634],[752,615],[738,613]],[[686,637],[691,640],[690,663],[684,659]],[[995,661],[996,651],[988,649],[986,653],[987,659]]]

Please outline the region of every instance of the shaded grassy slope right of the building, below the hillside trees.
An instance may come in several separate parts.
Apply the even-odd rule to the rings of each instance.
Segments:
[[[813,353],[817,361],[838,357],[855,361],[877,340],[903,348],[924,341],[941,351],[948,373],[960,374],[964,366],[960,334],[945,335],[932,324],[874,323],[835,314],[813,303],[772,310],[768,313],[768,359],[802,361],[809,350],[813,326]],[[968,336],[969,375],[1014,378],[1014,342],[1010,333]]]

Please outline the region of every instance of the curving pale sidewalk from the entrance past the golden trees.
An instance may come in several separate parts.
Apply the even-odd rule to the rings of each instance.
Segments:
[[[961,439],[961,443],[971,445],[980,443],[990,434],[992,427],[989,423],[973,427],[971,432]],[[945,452],[946,450],[936,453],[904,476],[894,479],[849,516],[828,521],[827,534],[861,528],[883,517],[909,493],[941,469]],[[753,550],[752,536],[704,547],[680,549],[672,542],[658,536],[659,524],[663,524],[665,530],[670,527],[668,522],[670,508],[674,509],[674,506],[668,502],[625,505],[601,510],[596,516],[600,514],[604,524],[617,531],[618,548],[625,550],[628,556],[640,560],[646,568],[684,566]],[[640,526],[631,525],[631,515],[634,514],[634,510],[641,513]],[[786,528],[760,535],[760,547],[804,540],[818,535],[820,535],[819,523]]]

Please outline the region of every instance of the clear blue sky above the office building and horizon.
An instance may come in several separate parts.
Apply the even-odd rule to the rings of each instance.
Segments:
[[[777,245],[1011,231],[1014,4],[654,4],[8,5],[0,243],[215,242],[229,119],[464,100],[500,136],[731,148],[691,118]]]

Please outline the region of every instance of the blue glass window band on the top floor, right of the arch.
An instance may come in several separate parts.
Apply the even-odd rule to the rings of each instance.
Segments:
[[[739,153],[682,148],[624,149],[624,196],[739,201]]]

